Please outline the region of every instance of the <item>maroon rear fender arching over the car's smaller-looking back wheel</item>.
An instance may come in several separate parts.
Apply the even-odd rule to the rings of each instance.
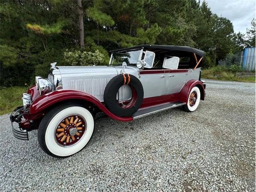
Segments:
[[[185,102],[185,103],[188,102],[189,93],[194,86],[197,86],[200,90],[200,100],[204,100],[204,84],[202,84],[202,82],[198,80],[190,80],[184,85],[184,87],[180,91],[179,100],[181,102]]]

